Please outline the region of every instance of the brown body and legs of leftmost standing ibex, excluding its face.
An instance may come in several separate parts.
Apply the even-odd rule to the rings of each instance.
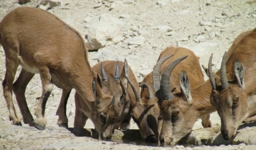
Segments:
[[[9,118],[13,124],[21,125],[15,111],[12,90],[21,110],[23,121],[38,129],[45,129],[45,105],[52,91],[53,84],[63,89],[61,101],[65,102],[71,89],[83,98],[83,104],[95,101],[111,101],[113,94],[104,95],[101,100],[95,100],[101,94],[97,80],[88,61],[88,49],[82,36],[56,16],[42,9],[19,7],[7,14],[0,23],[0,43],[6,55],[6,73],[2,82],[4,97],[9,109]],[[18,66],[21,73],[14,82]],[[36,119],[28,109],[25,90],[35,73],[40,74],[43,92],[38,107]],[[59,122],[67,124],[64,103]],[[107,107],[99,106],[99,111]],[[58,112],[57,112],[58,113]],[[62,121],[63,120],[63,121]]]

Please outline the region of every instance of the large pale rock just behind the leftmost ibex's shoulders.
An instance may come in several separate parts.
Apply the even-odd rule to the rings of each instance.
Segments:
[[[88,31],[88,50],[97,50],[123,40],[123,22],[110,14],[92,18]]]

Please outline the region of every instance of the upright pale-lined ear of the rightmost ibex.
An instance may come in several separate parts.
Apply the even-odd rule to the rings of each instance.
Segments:
[[[243,64],[240,61],[235,61],[234,70],[235,70],[236,81],[239,84],[239,87],[244,89],[245,85],[244,85],[244,66],[243,66]]]

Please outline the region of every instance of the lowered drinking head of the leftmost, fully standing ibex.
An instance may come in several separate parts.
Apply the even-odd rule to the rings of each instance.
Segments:
[[[113,124],[118,120],[123,109],[124,96],[122,94],[123,92],[119,91],[123,90],[123,88],[120,87],[118,63],[115,76],[110,74],[107,77],[102,65],[101,73],[102,76],[97,75],[97,80],[94,78],[92,82],[92,90],[95,98],[95,112],[91,113],[93,114],[92,120],[94,121],[95,129],[98,131],[100,138],[110,139]],[[119,86],[117,84],[119,84]],[[97,123],[95,123],[96,121]]]

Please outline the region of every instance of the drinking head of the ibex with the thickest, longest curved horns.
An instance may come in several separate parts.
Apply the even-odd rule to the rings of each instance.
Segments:
[[[180,140],[180,138],[190,133],[191,131],[190,127],[187,129],[187,127],[181,126],[180,123],[184,121],[184,118],[180,116],[183,116],[183,114],[186,113],[186,110],[188,110],[192,104],[190,82],[186,72],[182,71],[180,74],[181,94],[178,97],[175,97],[172,94],[170,87],[170,77],[172,70],[180,61],[186,57],[187,56],[183,56],[173,61],[164,70],[163,74],[161,75],[161,81],[160,74],[158,77],[156,76],[157,78],[154,80],[154,87],[156,90],[156,95],[158,95],[159,107],[163,118],[163,125],[160,133],[161,143],[175,144]]]

